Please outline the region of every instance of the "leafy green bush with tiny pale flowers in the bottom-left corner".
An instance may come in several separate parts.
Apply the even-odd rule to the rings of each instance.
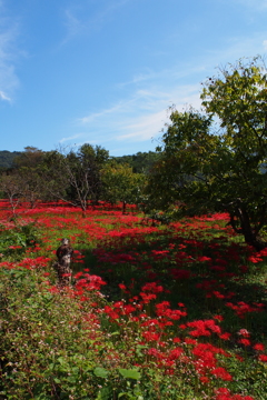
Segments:
[[[36,269],[2,268],[0,276],[1,398],[159,399],[164,392],[172,398],[171,376],[161,377],[154,363],[142,376],[130,364],[132,356],[119,353],[129,347],[118,343],[119,332],[100,329],[101,310],[96,307],[102,300],[97,292],[81,306],[78,292],[57,292]],[[140,359],[141,349],[132,348]],[[179,380],[177,384],[182,389]]]

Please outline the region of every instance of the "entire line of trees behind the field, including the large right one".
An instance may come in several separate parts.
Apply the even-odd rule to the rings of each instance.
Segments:
[[[263,249],[260,231],[267,224],[264,60],[228,64],[202,84],[201,110],[171,109],[158,156],[142,172],[111,160],[101,147],[83,144],[67,154],[27,148],[16,173],[2,176],[2,191],[14,201],[23,187],[32,204],[40,197],[53,197],[82,211],[88,200],[100,199],[142,202],[147,209],[178,210],[178,214],[228,211],[233,229]],[[27,164],[33,159],[33,167]]]

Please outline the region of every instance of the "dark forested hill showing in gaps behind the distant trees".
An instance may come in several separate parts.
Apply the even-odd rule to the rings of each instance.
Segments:
[[[11,168],[13,166],[13,159],[18,156],[21,156],[20,151],[8,151],[0,150],[0,169]],[[128,163],[132,167],[134,172],[148,172],[155,161],[157,161],[159,154],[149,151],[141,152],[139,151],[132,156],[121,156],[121,157],[111,157],[118,163]]]

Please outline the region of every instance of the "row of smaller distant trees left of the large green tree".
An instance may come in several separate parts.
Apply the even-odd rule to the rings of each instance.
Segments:
[[[39,200],[59,199],[80,207],[82,212],[89,201],[121,201],[125,211],[127,203],[140,201],[144,183],[144,173],[134,173],[100,146],[86,143],[68,152],[27,147],[16,159],[16,167],[2,173],[0,190],[13,211],[21,201],[33,208]]]

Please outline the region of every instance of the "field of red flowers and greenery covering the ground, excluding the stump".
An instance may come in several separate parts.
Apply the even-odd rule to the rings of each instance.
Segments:
[[[135,207],[0,209],[1,399],[267,399],[267,249],[227,214],[164,226]]]

